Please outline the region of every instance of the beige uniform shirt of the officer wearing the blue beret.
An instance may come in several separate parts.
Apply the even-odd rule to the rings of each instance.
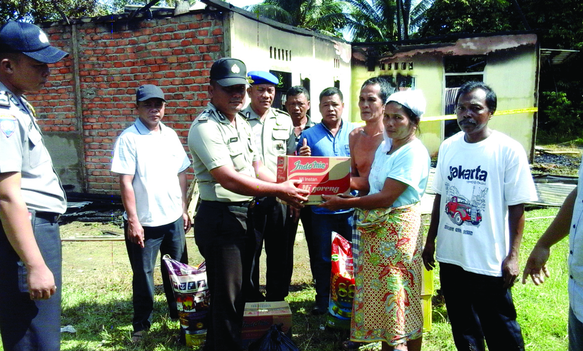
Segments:
[[[241,111],[253,132],[261,155],[261,162],[276,174],[278,156],[293,155],[296,140],[293,137],[293,123],[289,114],[276,108],[269,108],[263,121],[250,106]]]

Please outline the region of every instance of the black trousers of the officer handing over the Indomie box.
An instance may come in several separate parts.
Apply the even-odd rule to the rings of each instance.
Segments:
[[[244,290],[252,289],[253,255],[248,250],[255,247],[248,206],[249,203],[201,201],[196,212],[195,242],[206,261],[210,292],[205,351],[242,349]]]

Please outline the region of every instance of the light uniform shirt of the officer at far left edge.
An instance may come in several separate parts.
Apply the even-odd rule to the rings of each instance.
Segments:
[[[52,167],[33,110],[1,82],[0,150],[0,173],[20,173],[20,192],[27,208],[65,213],[65,191]]]

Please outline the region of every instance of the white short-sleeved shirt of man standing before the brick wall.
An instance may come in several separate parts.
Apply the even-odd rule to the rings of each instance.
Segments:
[[[136,212],[142,226],[157,227],[182,216],[178,173],[190,160],[173,129],[160,123],[152,132],[136,119],[115,142],[111,171],[134,176]],[[124,218],[128,219],[124,213]]]

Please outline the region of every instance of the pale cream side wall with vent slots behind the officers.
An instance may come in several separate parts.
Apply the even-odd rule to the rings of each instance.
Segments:
[[[310,79],[311,117],[321,120],[318,111],[319,93],[340,80],[340,91],[345,96],[347,120],[350,111],[350,44],[333,38],[307,36],[284,31],[268,24],[231,13],[229,32],[225,33],[225,53],[247,65],[247,71],[291,72],[291,84],[300,85],[301,79]],[[229,37],[227,39],[227,37]],[[269,48],[291,51],[291,60],[269,57]],[[336,66],[335,66],[336,59]]]

